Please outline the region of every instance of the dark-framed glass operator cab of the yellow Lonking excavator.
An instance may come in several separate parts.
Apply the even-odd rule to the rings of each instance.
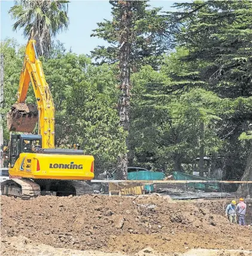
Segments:
[[[35,153],[41,148],[41,135],[34,134],[11,134],[9,149],[9,165],[13,168],[20,153]]]

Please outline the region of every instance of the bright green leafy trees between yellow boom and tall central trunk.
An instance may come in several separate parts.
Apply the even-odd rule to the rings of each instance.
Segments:
[[[43,67],[56,107],[57,146],[80,144],[101,170],[115,164],[126,149],[115,104],[114,67],[94,67],[85,55],[74,53],[60,53]]]

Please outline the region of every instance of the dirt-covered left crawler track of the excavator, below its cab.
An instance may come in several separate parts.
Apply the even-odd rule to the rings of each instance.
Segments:
[[[40,195],[40,185],[30,179],[9,179],[1,183],[2,195],[28,200]]]

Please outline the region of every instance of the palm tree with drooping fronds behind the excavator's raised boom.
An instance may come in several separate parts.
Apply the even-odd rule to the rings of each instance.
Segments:
[[[23,28],[25,38],[36,40],[38,55],[47,58],[51,50],[51,39],[68,28],[68,2],[63,0],[15,1],[9,13],[16,20],[13,30]]]

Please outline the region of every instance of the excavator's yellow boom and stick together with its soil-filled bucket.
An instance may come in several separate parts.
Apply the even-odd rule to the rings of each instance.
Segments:
[[[32,132],[38,120],[38,134],[42,136],[42,148],[54,148],[54,105],[45,80],[41,61],[35,49],[35,40],[29,40],[20,74],[17,103],[7,114],[10,131]],[[29,83],[32,83],[38,106],[25,104]]]

